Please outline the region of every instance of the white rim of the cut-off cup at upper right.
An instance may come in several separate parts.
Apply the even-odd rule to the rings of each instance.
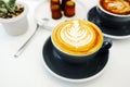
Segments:
[[[100,4],[100,0],[98,0],[98,2],[96,2],[96,8],[99,8],[104,13],[113,15],[113,16],[117,16],[117,17],[130,17],[130,14],[127,14],[127,15],[125,15],[125,14],[115,14],[115,13],[112,13],[112,12],[108,12],[108,11],[104,10],[102,8],[102,5]]]

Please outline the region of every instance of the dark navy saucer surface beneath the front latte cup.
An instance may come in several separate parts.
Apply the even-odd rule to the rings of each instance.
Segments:
[[[100,71],[104,69],[108,61],[108,50],[104,52],[98,53],[95,59],[91,60],[91,62],[87,62],[83,64],[70,64],[63,60],[61,57],[55,53],[54,48],[51,42],[51,38],[49,38],[42,49],[43,60],[47,66],[54,72],[55,74],[66,77],[66,78],[87,78],[98,74]]]

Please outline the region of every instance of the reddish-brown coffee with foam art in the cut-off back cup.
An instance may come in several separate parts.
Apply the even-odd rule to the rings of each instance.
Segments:
[[[100,0],[101,7],[114,14],[130,14],[130,0]]]

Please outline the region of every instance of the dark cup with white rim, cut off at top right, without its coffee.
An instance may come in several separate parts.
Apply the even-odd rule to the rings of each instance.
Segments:
[[[126,25],[130,25],[130,13],[129,14],[117,14],[112,13],[103,8],[104,0],[98,0],[96,11],[101,20],[101,24],[107,27],[120,28]]]

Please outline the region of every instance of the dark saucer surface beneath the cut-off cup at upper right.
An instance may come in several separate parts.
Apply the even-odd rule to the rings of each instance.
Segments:
[[[112,36],[117,36],[117,37],[129,36],[130,35],[130,22],[128,23],[128,25],[125,24],[123,26],[118,27],[118,28],[106,27],[106,26],[102,25],[101,21],[99,18],[98,12],[96,12],[96,7],[92,8],[89,11],[89,13],[87,14],[87,17],[90,22],[95,23],[102,29],[102,32],[104,34],[112,35]]]

